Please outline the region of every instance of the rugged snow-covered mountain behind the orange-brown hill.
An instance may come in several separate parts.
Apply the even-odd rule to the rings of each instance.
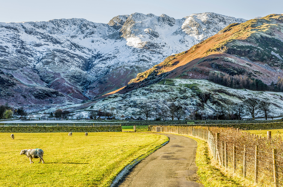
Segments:
[[[0,23],[0,78],[13,82],[8,87],[0,83],[0,102],[19,106],[52,99],[23,97],[33,93],[30,88],[56,90],[66,102],[91,99],[125,86],[137,73],[227,25],[245,21],[216,13],[182,19],[133,13],[116,16],[108,24],[75,18]]]

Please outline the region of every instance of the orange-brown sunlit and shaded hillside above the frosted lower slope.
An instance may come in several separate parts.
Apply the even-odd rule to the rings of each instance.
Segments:
[[[164,78],[208,79],[209,72],[246,75],[265,84],[283,73],[283,15],[271,14],[242,24],[230,24],[218,34],[171,55],[139,73],[119,93],[157,83]]]

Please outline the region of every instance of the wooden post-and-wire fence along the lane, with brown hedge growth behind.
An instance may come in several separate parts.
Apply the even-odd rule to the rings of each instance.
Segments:
[[[150,131],[156,131],[156,128],[157,126],[149,126]],[[234,133],[228,135],[225,133],[225,128],[217,128],[187,125],[162,126],[161,132],[186,134],[206,141],[213,159],[225,170],[230,170],[257,186],[283,187],[283,137],[271,137],[271,134],[261,137],[238,131],[238,129],[234,129]],[[233,139],[232,136],[237,138]],[[272,148],[267,149],[266,146]],[[280,152],[273,148],[278,146]]]

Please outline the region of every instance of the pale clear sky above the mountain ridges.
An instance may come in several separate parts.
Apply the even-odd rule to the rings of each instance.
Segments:
[[[175,19],[203,12],[243,19],[283,13],[282,0],[1,0],[0,6],[0,22],[83,18],[108,23],[117,15],[136,12],[166,14]]]

